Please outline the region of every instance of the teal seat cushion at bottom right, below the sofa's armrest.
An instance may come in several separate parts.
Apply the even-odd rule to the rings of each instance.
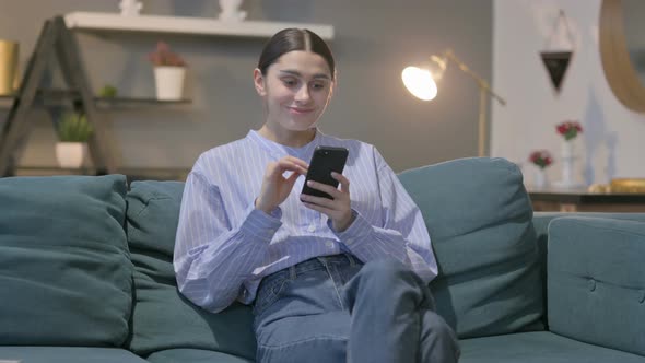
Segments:
[[[459,363],[645,363],[645,356],[549,331],[461,340]]]

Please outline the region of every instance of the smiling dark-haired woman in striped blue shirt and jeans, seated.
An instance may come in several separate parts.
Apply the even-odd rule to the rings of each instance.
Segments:
[[[254,81],[263,126],[204,152],[186,182],[180,292],[211,312],[253,304],[258,362],[456,362],[419,209],[374,147],[316,127],[336,82],[328,46],[281,31]],[[309,185],[332,199],[301,194],[317,145],[349,150],[339,188]]]

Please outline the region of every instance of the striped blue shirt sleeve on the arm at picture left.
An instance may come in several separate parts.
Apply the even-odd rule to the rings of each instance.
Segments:
[[[253,204],[234,229],[216,185],[195,169],[188,175],[175,241],[174,268],[181,294],[196,305],[220,312],[243,292],[243,283],[260,266],[281,226]]]

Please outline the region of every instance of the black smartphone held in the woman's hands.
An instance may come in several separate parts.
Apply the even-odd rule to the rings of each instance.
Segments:
[[[338,188],[338,180],[331,177],[331,172],[342,174],[342,169],[348,160],[348,154],[349,151],[347,148],[316,147],[316,150],[314,150],[314,156],[312,156],[312,161],[309,162],[309,169],[307,171],[305,185],[303,186],[303,194],[333,199],[325,191],[308,187],[307,182],[315,180]]]

